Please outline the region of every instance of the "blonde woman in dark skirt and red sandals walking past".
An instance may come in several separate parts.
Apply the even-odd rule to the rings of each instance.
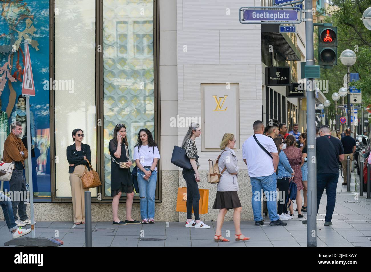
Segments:
[[[236,233],[234,238],[236,241],[247,241],[250,239],[241,234],[240,229],[242,205],[237,195],[237,191],[239,191],[237,182],[238,160],[233,150],[235,144],[236,138],[230,133],[224,134],[220,143],[220,149],[223,150],[219,158],[219,172],[221,176],[213,206],[213,209],[219,209],[214,235],[215,242],[229,242],[228,239],[221,236],[221,227],[223,226],[224,216],[230,209],[233,209],[233,222]]]

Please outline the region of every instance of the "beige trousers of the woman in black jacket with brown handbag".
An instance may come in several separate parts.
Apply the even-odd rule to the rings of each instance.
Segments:
[[[70,174],[72,193],[73,222],[85,222],[85,197],[84,192],[89,189],[82,187],[81,177],[86,172],[85,165],[76,165],[73,173]]]

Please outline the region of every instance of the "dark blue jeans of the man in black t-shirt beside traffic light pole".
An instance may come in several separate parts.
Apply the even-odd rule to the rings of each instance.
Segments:
[[[325,221],[331,222],[332,214],[335,209],[336,187],[338,185],[339,173],[319,174],[317,173],[317,214],[319,202],[326,188],[327,205]]]

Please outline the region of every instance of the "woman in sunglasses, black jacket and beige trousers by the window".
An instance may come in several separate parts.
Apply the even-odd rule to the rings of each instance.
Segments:
[[[88,159],[91,161],[92,155],[90,146],[82,143],[84,132],[80,128],[72,131],[73,145],[67,147],[67,160],[69,162],[69,174],[72,195],[73,222],[75,225],[85,224],[85,191],[82,187],[82,174],[90,171]]]

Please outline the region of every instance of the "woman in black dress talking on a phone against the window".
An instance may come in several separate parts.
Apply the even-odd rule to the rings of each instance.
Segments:
[[[140,224],[139,221],[131,218],[133,206],[134,186],[131,179],[129,160],[129,144],[127,140],[126,127],[124,124],[117,124],[113,131],[112,140],[109,141],[109,154],[111,155],[111,197],[113,225]],[[128,168],[120,168],[120,162],[125,162]],[[126,220],[118,219],[118,203],[121,194],[126,194]]]

